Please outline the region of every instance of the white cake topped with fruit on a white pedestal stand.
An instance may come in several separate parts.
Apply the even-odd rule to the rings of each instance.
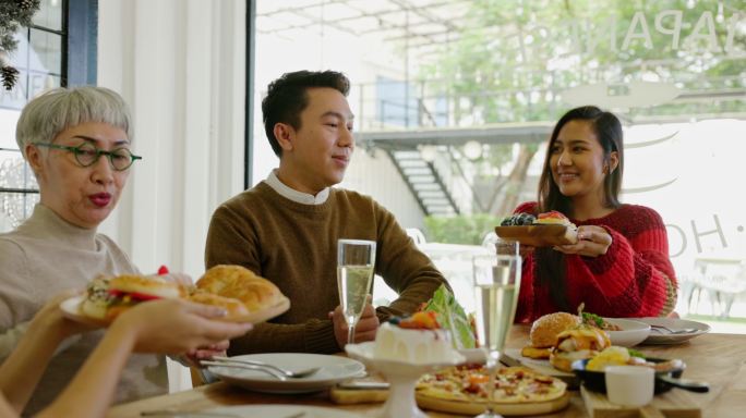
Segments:
[[[395,318],[381,325],[375,342],[345,347],[350,357],[381,372],[389,382],[390,393],[381,417],[426,417],[414,401],[419,378],[465,361],[454,349],[449,332],[441,329],[435,318],[432,311]]]

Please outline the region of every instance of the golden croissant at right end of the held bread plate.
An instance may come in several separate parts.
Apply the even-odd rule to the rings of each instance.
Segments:
[[[282,293],[270,281],[241,266],[219,265],[196,282],[200,290],[241,300],[250,312],[279,304]]]

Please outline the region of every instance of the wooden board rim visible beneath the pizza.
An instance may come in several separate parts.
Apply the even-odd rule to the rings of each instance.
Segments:
[[[483,403],[442,399],[438,397],[426,396],[419,392],[414,393],[414,398],[421,408],[438,410],[442,413],[476,416],[478,414],[482,414],[485,408]],[[502,415],[536,416],[565,408],[569,402],[569,393],[565,392],[563,396],[548,402],[494,404],[494,409],[497,414]]]

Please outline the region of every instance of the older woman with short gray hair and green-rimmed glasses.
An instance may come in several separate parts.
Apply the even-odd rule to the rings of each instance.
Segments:
[[[39,184],[40,201],[16,230],[0,234],[0,361],[52,296],[84,288],[97,274],[136,274],[113,241],[96,232],[141,158],[132,150],[124,100],[103,87],[58,88],[26,104],[16,140]],[[48,405],[72,379],[101,331],[80,335],[49,364],[27,414]],[[227,347],[227,342],[222,343]],[[168,391],[166,359],[133,355],[116,402]]]

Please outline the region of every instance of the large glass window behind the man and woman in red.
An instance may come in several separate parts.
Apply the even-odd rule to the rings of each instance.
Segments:
[[[479,245],[536,200],[557,119],[582,104],[613,111],[622,199],[662,216],[677,309],[746,317],[733,188],[746,175],[743,1],[258,0],[255,14],[254,101],[285,72],[345,72],[358,151],[341,186],[428,242]],[[257,183],[278,163],[261,122],[251,146]]]

